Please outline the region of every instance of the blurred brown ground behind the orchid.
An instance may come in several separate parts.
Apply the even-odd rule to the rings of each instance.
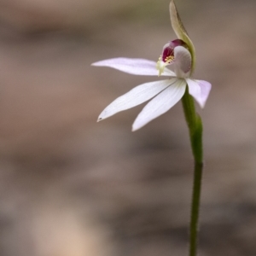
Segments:
[[[182,106],[96,124],[152,80],[90,63],[157,60],[169,1],[0,1],[0,255],[186,255],[193,160]],[[212,83],[201,255],[256,255],[255,1],[177,1]]]

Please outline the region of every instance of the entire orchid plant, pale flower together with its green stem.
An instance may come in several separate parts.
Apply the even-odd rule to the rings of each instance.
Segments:
[[[150,100],[132,125],[132,131],[137,131],[161,114],[166,113],[179,100],[182,100],[183,112],[189,127],[189,138],[195,160],[189,256],[196,256],[201,177],[203,172],[203,146],[202,122],[201,117],[195,111],[194,99],[201,108],[204,108],[212,85],[207,81],[191,78],[195,70],[195,47],[180,20],[173,0],[170,3],[170,16],[172,28],[177,35],[177,39],[164,45],[160,58],[156,63],[144,59],[115,58],[95,62],[92,66],[112,67],[134,75],[168,77],[166,80],[140,84],[125,93],[125,95],[119,96],[102,111],[98,121]],[[171,67],[172,70],[168,67]]]

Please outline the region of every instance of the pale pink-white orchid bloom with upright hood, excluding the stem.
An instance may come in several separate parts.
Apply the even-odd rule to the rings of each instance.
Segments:
[[[170,14],[172,28],[178,39],[165,44],[157,63],[145,59],[114,58],[92,64],[97,67],[113,67],[134,75],[168,77],[166,80],[140,84],[125,95],[119,96],[102,111],[98,121],[152,99],[138,114],[132,125],[132,131],[137,131],[172,108],[183,97],[187,85],[189,94],[195,98],[201,108],[204,108],[211,84],[207,81],[191,79],[190,76],[195,68],[195,48],[179,19],[173,0],[170,3]],[[172,70],[167,66],[172,67]]]

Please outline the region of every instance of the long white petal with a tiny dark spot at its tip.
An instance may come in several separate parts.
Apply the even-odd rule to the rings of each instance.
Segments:
[[[107,119],[115,113],[133,108],[143,102],[147,102],[149,99],[160,93],[160,91],[165,90],[175,80],[176,79],[167,79],[138,85],[125,93],[125,95],[119,96],[116,100],[110,103],[110,105],[102,111],[98,121]]]

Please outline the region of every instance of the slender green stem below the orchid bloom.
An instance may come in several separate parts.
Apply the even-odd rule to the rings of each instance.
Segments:
[[[182,102],[185,119],[189,126],[190,143],[195,160],[189,230],[189,256],[196,256],[201,197],[201,177],[203,172],[202,123],[201,117],[195,112],[195,102],[192,96],[189,95],[188,88],[183,96]]]

